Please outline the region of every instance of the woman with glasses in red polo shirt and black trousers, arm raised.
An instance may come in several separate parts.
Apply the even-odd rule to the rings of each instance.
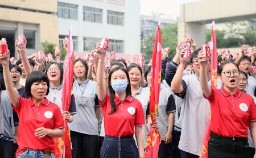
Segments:
[[[208,157],[249,157],[248,128],[256,144],[256,106],[253,97],[238,90],[240,70],[237,64],[230,61],[221,64],[218,69],[222,88],[217,90],[209,86],[208,60],[203,57],[204,53],[199,52],[200,86],[212,111]]]

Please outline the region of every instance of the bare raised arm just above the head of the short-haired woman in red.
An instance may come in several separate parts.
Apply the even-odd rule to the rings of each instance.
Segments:
[[[19,39],[16,38],[16,43],[18,42],[18,40]],[[32,72],[32,69],[31,69],[30,63],[28,62],[28,59],[27,59],[26,45],[27,45],[27,40],[25,38],[25,43],[24,43],[24,47],[23,48],[19,48],[19,47],[16,47],[16,46],[15,47],[16,47],[16,51],[19,52],[20,57],[22,59],[22,64],[24,66],[24,70],[25,70],[27,76],[29,76],[30,73]]]

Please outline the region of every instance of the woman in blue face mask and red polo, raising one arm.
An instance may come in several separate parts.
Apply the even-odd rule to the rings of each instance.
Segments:
[[[109,94],[104,88],[104,60],[106,52],[97,48],[97,92],[105,124],[105,139],[100,157],[144,157],[142,126],[144,117],[141,103],[131,97],[129,74],[123,67],[110,70]],[[137,138],[138,148],[133,135]]]

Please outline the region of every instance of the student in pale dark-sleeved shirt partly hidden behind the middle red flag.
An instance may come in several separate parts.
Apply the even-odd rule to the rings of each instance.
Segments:
[[[144,77],[148,85],[151,82],[151,66],[148,66],[145,70]],[[163,78],[161,77],[161,82]],[[174,97],[170,90],[164,88],[161,84],[159,103],[158,103],[158,126],[161,136],[161,144],[159,145],[158,158],[168,158],[171,150],[172,142],[172,129],[174,128],[174,112],[176,110]],[[148,122],[151,122],[151,118],[148,117]]]

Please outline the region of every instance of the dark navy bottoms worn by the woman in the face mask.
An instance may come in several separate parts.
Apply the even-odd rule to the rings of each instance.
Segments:
[[[101,158],[138,158],[139,151],[133,136],[105,136]]]

